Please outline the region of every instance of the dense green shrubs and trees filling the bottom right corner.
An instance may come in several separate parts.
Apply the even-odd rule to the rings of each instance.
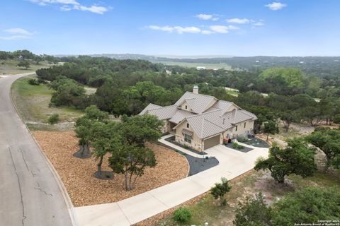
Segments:
[[[263,196],[257,194],[239,203],[234,225],[296,225],[339,220],[339,201],[339,193],[334,189],[307,187],[288,194],[270,207]]]

